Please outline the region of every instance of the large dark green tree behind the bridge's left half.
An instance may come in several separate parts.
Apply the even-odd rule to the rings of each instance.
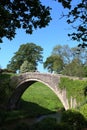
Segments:
[[[32,64],[34,69],[37,69],[38,62],[42,63],[42,51],[43,48],[34,43],[22,44],[11,58],[7,68],[15,72],[19,71],[20,67],[23,67],[24,62],[27,61],[29,65]]]

